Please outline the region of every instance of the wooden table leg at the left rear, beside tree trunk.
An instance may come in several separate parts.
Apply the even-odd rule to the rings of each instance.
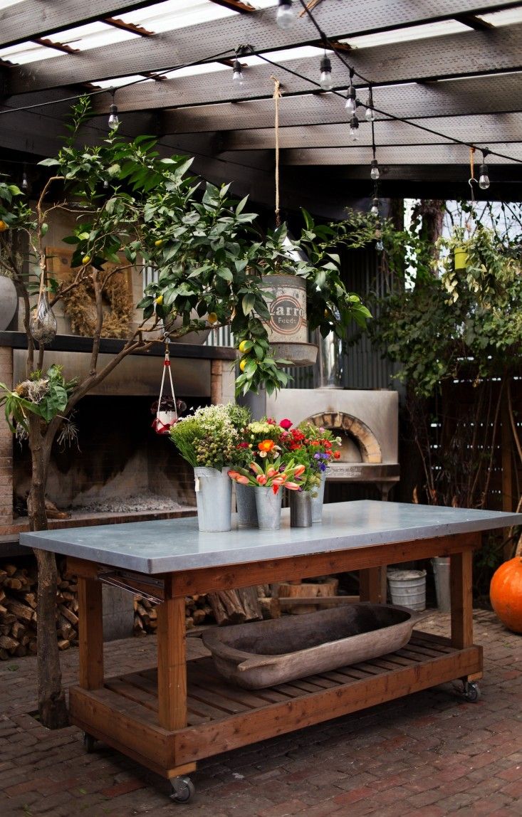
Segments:
[[[101,582],[78,576],[78,646],[80,686],[103,686],[103,602]]]

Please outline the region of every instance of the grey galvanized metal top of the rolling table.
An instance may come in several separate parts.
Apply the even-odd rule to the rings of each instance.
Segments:
[[[522,525],[522,514],[360,500],[325,505],[323,522],[279,530],[233,529],[207,534],[195,517],[20,534],[20,544],[144,574],[240,565],[346,548],[386,545]]]

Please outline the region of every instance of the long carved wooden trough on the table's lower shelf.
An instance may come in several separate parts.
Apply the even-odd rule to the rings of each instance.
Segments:
[[[407,607],[350,604],[302,616],[214,627],[203,633],[216,668],[248,690],[400,650],[426,617]]]

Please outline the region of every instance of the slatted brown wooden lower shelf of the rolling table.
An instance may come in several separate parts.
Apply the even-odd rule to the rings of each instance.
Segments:
[[[155,669],[106,679],[100,690],[70,690],[71,721],[166,777],[195,761],[482,672],[482,648],[413,632],[402,650],[265,690],[243,690],[212,659],[187,663],[187,725],[158,725]]]

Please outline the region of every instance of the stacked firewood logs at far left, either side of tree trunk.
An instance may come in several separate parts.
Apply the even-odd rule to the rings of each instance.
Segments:
[[[36,565],[0,568],[0,660],[36,653]],[[56,636],[60,650],[78,644],[78,585],[70,574],[58,570]]]

